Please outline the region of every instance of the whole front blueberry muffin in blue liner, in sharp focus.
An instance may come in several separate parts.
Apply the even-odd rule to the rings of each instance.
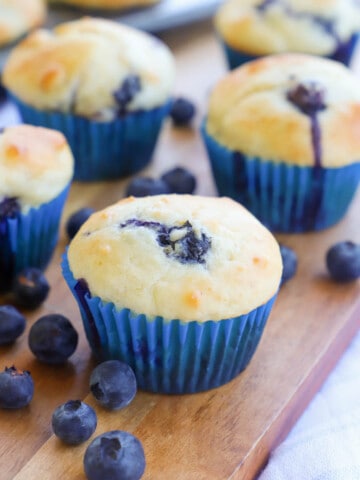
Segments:
[[[282,263],[274,237],[237,202],[170,194],[93,214],[63,273],[98,358],[127,362],[142,389],[186,393],[247,366]]]

